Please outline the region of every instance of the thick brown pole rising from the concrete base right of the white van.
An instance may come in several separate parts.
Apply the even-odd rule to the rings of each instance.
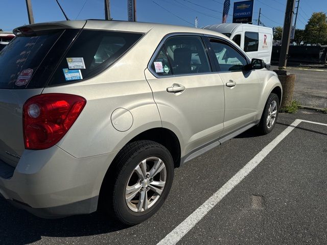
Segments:
[[[293,23],[294,7],[295,7],[295,0],[287,0],[283,36],[282,36],[281,55],[279,56],[279,63],[278,63],[279,69],[285,69],[287,63],[288,49],[290,46],[291,27]]]

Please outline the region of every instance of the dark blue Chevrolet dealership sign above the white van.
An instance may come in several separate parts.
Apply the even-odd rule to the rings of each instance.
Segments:
[[[233,23],[252,22],[253,1],[242,1],[234,3]]]

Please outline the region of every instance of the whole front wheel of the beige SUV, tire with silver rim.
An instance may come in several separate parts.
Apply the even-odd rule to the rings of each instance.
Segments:
[[[273,108],[273,105],[275,104],[275,107]],[[272,106],[272,113],[270,112],[270,106]],[[264,111],[262,113],[259,125],[258,125],[258,131],[261,134],[269,134],[275,127],[277,117],[278,117],[278,110],[279,110],[279,99],[277,94],[271,93],[268,96]],[[274,117],[273,117],[274,116]],[[268,119],[270,122],[268,122]]]

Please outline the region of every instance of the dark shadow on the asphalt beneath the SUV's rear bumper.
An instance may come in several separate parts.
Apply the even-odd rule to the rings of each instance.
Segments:
[[[60,219],[43,219],[0,199],[0,244],[28,244],[42,236],[78,237],[110,233],[129,228],[95,212]]]

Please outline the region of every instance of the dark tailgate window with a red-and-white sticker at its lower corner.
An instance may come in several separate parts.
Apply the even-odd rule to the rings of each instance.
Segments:
[[[19,35],[0,52],[0,88],[25,88],[61,31]]]

